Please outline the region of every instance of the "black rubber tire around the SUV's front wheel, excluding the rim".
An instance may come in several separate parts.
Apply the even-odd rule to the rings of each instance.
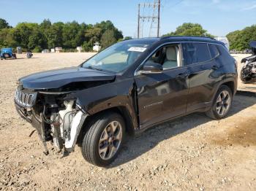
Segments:
[[[118,122],[118,124],[121,125],[121,131],[119,131],[119,133],[121,133],[121,140],[120,140],[120,144],[118,144],[118,149],[116,150],[116,152],[113,152],[114,153],[113,157],[110,157],[109,159],[107,159],[107,158],[103,159],[102,155],[99,154],[99,150],[100,150],[99,147],[101,145],[102,145],[102,147],[104,147],[104,145],[106,147],[108,147],[105,154],[103,153],[104,156],[106,155],[107,152],[109,155],[112,153],[112,152],[110,153],[110,149],[109,149],[110,148],[109,140],[111,138],[109,138],[110,136],[108,134],[107,134],[108,135],[107,143],[106,143],[106,141],[100,142],[100,139],[103,138],[103,134],[105,133],[105,130],[109,127],[111,122]],[[85,133],[85,136],[83,137],[83,142],[82,142],[82,147],[81,147],[83,157],[89,163],[94,164],[94,165],[98,165],[98,166],[110,165],[110,163],[112,163],[113,160],[116,159],[118,152],[120,151],[121,146],[124,143],[125,124],[124,124],[123,117],[121,117],[120,114],[117,114],[115,112],[99,114],[99,115],[97,115],[97,117],[94,117],[94,119],[91,120],[91,122],[89,122],[89,124],[86,126],[87,126],[86,127],[87,131]],[[116,130],[118,130],[118,129],[120,130],[120,128],[116,128]],[[115,132],[113,132],[113,134],[114,133]],[[112,145],[114,145],[113,140],[112,140]],[[116,141],[117,141],[117,139],[116,139]],[[102,144],[102,143],[104,143],[104,144]],[[106,147],[104,147],[104,148],[106,148]],[[116,147],[112,146],[111,150],[112,150],[112,148],[116,149]]]

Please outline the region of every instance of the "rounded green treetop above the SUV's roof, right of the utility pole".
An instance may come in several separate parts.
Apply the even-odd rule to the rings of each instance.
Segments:
[[[211,34],[208,34],[203,27],[198,23],[183,23],[182,26],[178,26],[176,31],[163,36],[209,36],[213,37]]]

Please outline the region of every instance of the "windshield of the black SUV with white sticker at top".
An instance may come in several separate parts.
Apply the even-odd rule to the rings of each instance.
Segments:
[[[82,64],[83,68],[112,71],[118,73],[131,66],[148,47],[148,44],[120,42]]]

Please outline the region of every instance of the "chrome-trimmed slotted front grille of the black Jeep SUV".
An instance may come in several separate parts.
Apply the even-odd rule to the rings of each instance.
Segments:
[[[36,93],[24,93],[20,90],[16,90],[15,101],[20,106],[28,108],[34,105],[36,95]]]

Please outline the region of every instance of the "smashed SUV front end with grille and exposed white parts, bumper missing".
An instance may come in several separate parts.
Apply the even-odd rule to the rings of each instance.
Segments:
[[[64,155],[74,150],[88,114],[69,92],[53,93],[27,90],[19,85],[15,93],[15,107],[23,119],[37,130],[48,155],[46,141],[64,149]]]

